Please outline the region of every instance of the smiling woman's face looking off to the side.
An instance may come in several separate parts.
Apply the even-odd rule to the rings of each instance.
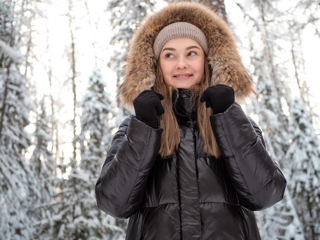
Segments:
[[[204,52],[191,38],[175,38],[162,48],[159,63],[166,84],[174,88],[191,88],[204,74]]]

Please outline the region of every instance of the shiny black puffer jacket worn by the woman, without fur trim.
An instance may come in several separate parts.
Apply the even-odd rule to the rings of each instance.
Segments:
[[[161,128],[124,120],[96,185],[99,208],[130,217],[130,240],[260,239],[252,211],[280,201],[286,186],[260,129],[232,104],[214,115],[222,157],[207,156],[190,99],[180,99],[181,141],[168,158],[157,155]]]

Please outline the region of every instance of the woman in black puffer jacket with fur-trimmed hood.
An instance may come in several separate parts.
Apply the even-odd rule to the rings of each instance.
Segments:
[[[169,5],[135,33],[122,103],[134,107],[96,184],[100,209],[130,218],[126,239],[260,239],[252,211],[286,180],[235,102],[254,93],[226,23]]]

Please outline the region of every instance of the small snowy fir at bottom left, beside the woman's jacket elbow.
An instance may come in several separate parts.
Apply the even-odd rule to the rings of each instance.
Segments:
[[[58,180],[59,188],[53,208],[54,239],[124,239],[124,230],[117,227],[113,218],[98,218],[96,200],[89,193],[92,181],[79,164],[71,159],[61,165],[64,178]],[[91,189],[95,185],[90,186]]]

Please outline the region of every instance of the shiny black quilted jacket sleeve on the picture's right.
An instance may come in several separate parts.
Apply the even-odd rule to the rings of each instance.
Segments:
[[[254,211],[282,200],[286,180],[266,151],[261,130],[241,106],[233,103],[210,121],[240,204]]]

